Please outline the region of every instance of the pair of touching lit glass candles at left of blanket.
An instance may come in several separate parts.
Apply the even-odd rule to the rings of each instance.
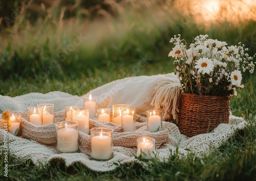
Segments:
[[[29,122],[36,126],[54,123],[54,104],[38,104],[37,107],[28,107]]]

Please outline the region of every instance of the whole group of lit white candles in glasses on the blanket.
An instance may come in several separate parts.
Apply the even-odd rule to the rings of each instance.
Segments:
[[[123,132],[135,131],[135,109],[129,104],[115,104],[111,108],[96,109],[96,96],[83,96],[84,107],[66,106],[65,121],[56,126],[56,147],[60,152],[78,151],[78,130],[89,134],[89,119],[95,118],[103,122],[113,122],[121,125]],[[38,104],[28,107],[29,122],[40,126],[54,123],[54,105]],[[16,118],[17,120],[17,118]],[[147,130],[160,131],[162,129],[162,111],[147,111]],[[12,115],[9,131],[14,134],[19,128]],[[137,155],[143,159],[151,159],[155,154],[155,140],[153,138],[139,138],[137,140]],[[113,157],[113,129],[91,129],[91,158],[95,160],[109,160]]]

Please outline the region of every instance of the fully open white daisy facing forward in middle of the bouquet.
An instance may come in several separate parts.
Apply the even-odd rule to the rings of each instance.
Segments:
[[[198,69],[198,73],[203,73],[203,74],[210,74],[214,70],[214,64],[212,63],[211,59],[208,58],[200,58],[196,62],[196,69]]]

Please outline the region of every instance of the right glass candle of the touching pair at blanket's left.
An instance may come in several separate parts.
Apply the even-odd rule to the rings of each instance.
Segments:
[[[37,104],[42,108],[42,125],[54,123],[54,104]]]

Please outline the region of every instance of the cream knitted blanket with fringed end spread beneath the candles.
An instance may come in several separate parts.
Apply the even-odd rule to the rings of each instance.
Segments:
[[[55,105],[55,122],[63,121],[65,106],[82,106],[82,97],[73,96],[62,92],[50,92],[47,94],[30,93],[27,95],[8,97],[0,96],[0,106],[4,109],[22,111],[22,135],[15,137],[8,133],[9,151],[17,156],[31,159],[38,166],[49,161],[64,161],[67,166],[80,162],[95,171],[114,170],[118,164],[137,160],[136,140],[143,135],[150,135],[156,139],[156,156],[164,161],[170,154],[178,150],[180,156],[186,156],[189,152],[197,156],[208,154],[211,148],[218,148],[226,141],[236,129],[243,129],[245,121],[242,118],[230,116],[229,124],[220,124],[210,133],[196,135],[187,138],[181,134],[176,124],[180,98],[179,80],[174,74],[130,77],[102,85],[88,94],[98,96],[98,108],[111,107],[113,104],[131,104],[137,112],[136,131],[121,132],[121,128],[114,123],[105,123],[90,120],[90,128],[113,128],[114,157],[109,161],[90,160],[90,135],[79,131],[78,153],[57,153],[55,149],[55,126],[53,124],[36,127],[27,121],[26,108],[39,103],[53,103]],[[162,131],[151,133],[146,131],[145,111],[162,109],[164,112]],[[5,131],[4,121],[0,122],[0,141],[3,142]],[[178,148],[178,149],[177,149]],[[3,150],[4,147],[2,146]],[[114,164],[116,163],[116,164]],[[142,164],[144,165],[144,164]]]

